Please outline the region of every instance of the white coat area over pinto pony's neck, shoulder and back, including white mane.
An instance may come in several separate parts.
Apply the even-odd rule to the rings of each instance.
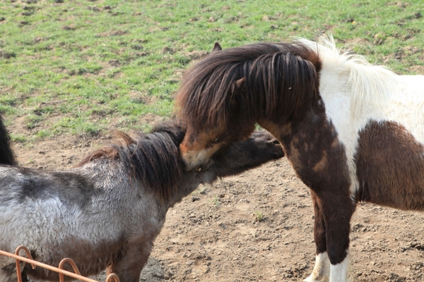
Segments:
[[[370,120],[404,125],[424,145],[424,76],[396,75],[383,66],[372,66],[362,56],[341,54],[332,37],[321,43],[300,42],[322,59],[319,93],[346,148],[353,198],[359,188],[354,159],[359,133]]]

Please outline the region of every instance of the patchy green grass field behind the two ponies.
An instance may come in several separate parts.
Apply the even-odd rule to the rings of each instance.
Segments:
[[[423,65],[422,0],[26,3],[0,3],[0,113],[23,116],[38,137],[100,133],[112,118],[146,129],[144,115],[172,116],[182,70],[216,41],[228,48],[332,32],[340,47],[396,72]]]

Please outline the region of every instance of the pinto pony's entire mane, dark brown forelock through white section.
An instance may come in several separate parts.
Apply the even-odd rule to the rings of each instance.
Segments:
[[[318,42],[297,38],[290,43],[249,44],[209,54],[184,75],[177,107],[183,121],[195,128],[222,125],[234,98],[234,82],[246,78],[245,92],[237,97],[240,118],[298,118],[318,95],[321,70],[346,75],[353,115],[381,103],[399,86],[395,73],[372,65],[363,56],[341,51],[331,35]]]

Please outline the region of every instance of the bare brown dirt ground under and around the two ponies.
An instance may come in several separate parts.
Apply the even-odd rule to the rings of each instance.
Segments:
[[[30,135],[19,121],[9,129]],[[13,149],[20,166],[69,168],[111,138],[60,135]],[[423,222],[424,214],[358,204],[353,281],[424,281]],[[312,229],[309,190],[286,159],[272,161],[170,209],[140,281],[302,281],[314,266]]]

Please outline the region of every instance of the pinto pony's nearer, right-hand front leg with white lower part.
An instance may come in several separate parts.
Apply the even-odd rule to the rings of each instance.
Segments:
[[[349,233],[355,203],[343,190],[315,192],[325,224],[326,250],[330,261],[329,282],[348,281]]]

